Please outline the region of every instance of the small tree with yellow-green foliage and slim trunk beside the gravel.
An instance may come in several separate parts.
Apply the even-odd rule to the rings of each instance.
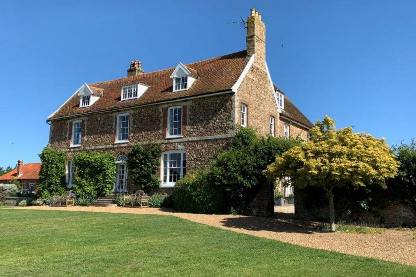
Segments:
[[[330,228],[335,231],[333,188],[347,185],[380,185],[397,174],[399,162],[384,139],[353,133],[352,127],[336,129],[325,116],[310,130],[311,140],[295,146],[265,170],[269,180],[289,177],[299,188],[320,186],[329,201]]]

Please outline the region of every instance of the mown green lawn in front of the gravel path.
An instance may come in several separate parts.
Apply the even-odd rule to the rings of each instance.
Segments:
[[[0,276],[416,276],[173,216],[1,209],[0,231]]]

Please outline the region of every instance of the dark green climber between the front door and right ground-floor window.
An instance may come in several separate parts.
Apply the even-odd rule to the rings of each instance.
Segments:
[[[160,186],[157,175],[160,166],[160,144],[150,143],[143,147],[135,145],[127,157],[129,178],[139,189],[148,192]]]

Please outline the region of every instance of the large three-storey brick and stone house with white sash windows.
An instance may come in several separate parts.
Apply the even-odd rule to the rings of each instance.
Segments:
[[[308,139],[312,123],[274,86],[266,63],[265,25],[255,9],[247,19],[247,48],[145,73],[132,61],[127,77],[84,84],[47,121],[49,146],[71,157],[85,150],[112,153],[116,191],[134,190],[125,164],[138,143],[161,143],[162,187],[203,168],[235,135],[251,126],[260,135]]]

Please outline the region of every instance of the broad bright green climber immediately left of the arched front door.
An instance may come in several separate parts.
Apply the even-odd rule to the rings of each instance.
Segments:
[[[77,170],[72,187],[76,195],[97,198],[112,192],[115,164],[111,154],[84,152],[75,154],[72,161]]]

